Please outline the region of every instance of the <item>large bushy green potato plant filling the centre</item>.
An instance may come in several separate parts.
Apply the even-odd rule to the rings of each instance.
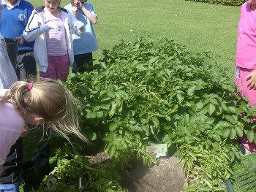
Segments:
[[[93,72],[67,80],[87,137],[105,142],[119,171],[132,158],[152,164],[145,146],[165,142],[178,150],[187,191],[225,191],[221,183],[240,158],[234,138],[256,141],[249,120],[256,113],[227,69],[165,38],[138,37],[103,55]]]

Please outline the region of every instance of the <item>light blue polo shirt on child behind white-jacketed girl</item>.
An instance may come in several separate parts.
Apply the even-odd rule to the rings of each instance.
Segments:
[[[92,6],[92,4],[86,2],[83,3],[83,7],[86,7],[86,9],[89,10],[92,15],[97,16],[96,12],[94,12],[94,7]],[[64,8],[67,9],[69,12],[72,12],[71,4],[68,4]],[[86,33],[83,34],[82,37],[72,34],[74,55],[94,52],[95,50],[97,50],[97,41],[92,23],[90,22],[89,18],[86,18],[86,15],[84,15],[81,9],[78,9],[76,18],[84,23],[84,26],[86,26]]]

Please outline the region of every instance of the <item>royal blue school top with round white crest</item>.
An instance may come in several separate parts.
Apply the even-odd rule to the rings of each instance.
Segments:
[[[25,0],[18,0],[17,3],[9,7],[4,0],[1,6],[0,33],[4,38],[14,39],[15,37],[23,37],[23,31],[29,21],[29,17],[34,10],[31,3]],[[34,42],[24,41],[23,46],[18,47],[19,53],[28,53],[34,50]]]

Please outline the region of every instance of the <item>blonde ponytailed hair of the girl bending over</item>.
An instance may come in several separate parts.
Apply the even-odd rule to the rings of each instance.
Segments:
[[[21,115],[37,114],[44,122],[69,142],[75,134],[83,141],[87,139],[79,131],[78,100],[56,80],[44,79],[34,82],[15,82],[9,91],[0,97],[0,104],[10,102]]]

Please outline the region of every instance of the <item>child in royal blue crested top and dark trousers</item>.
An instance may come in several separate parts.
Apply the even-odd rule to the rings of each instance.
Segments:
[[[0,0],[0,5],[3,7],[0,33],[4,38],[16,39],[19,45],[17,65],[13,66],[18,80],[37,75],[34,42],[27,42],[23,37],[23,31],[34,10],[33,5],[26,0]]]

